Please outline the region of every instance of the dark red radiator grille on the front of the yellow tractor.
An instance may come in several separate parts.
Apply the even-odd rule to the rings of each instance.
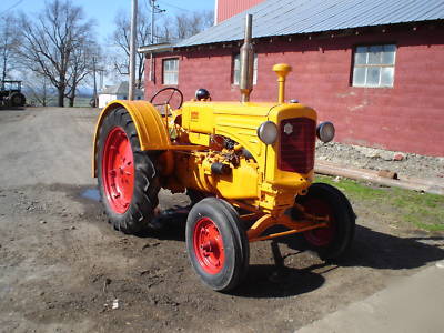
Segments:
[[[316,123],[307,118],[281,121],[278,168],[282,171],[307,173],[314,167]]]

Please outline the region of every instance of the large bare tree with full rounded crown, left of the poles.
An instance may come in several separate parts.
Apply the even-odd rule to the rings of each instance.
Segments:
[[[91,30],[92,22],[84,19],[82,8],[68,0],[47,2],[34,20],[21,16],[20,57],[28,69],[46,77],[57,89],[59,107],[64,104],[74,54],[91,41]]]

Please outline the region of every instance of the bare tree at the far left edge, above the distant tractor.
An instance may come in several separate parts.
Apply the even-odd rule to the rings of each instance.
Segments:
[[[16,65],[16,50],[19,46],[17,20],[12,16],[0,19],[0,65],[1,81],[9,77]]]

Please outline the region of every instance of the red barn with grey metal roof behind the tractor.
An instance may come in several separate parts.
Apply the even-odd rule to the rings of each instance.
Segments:
[[[214,27],[140,49],[147,53],[147,98],[172,85],[185,99],[205,88],[213,100],[239,100],[239,48],[251,13],[253,101],[276,100],[271,69],[286,62],[293,68],[286,97],[333,121],[336,141],[444,155],[442,0],[232,2],[216,1]]]

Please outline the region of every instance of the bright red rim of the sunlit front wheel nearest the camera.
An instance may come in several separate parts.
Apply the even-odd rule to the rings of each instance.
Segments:
[[[222,235],[210,218],[202,218],[194,226],[194,254],[209,274],[219,273],[225,261]]]

